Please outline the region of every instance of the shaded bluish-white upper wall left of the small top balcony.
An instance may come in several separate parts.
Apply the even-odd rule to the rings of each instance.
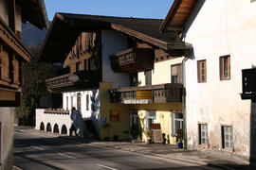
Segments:
[[[110,55],[128,48],[128,41],[114,30],[101,31],[102,81],[112,82],[114,88],[130,86],[129,74],[115,73],[111,68]]]

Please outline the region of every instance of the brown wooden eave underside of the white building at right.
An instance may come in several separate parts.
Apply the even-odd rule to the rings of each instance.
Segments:
[[[196,3],[197,0],[174,0],[174,4],[160,26],[160,32],[182,31]]]

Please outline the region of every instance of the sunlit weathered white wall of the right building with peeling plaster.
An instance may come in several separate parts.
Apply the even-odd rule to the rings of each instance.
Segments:
[[[250,152],[250,100],[242,100],[242,69],[256,64],[256,3],[205,1],[186,35],[188,147],[198,148],[198,123],[208,124],[210,148],[221,149],[221,126],[233,128],[234,152]],[[220,80],[219,57],[230,55],[230,80]],[[207,60],[207,82],[197,82],[197,60]]]

